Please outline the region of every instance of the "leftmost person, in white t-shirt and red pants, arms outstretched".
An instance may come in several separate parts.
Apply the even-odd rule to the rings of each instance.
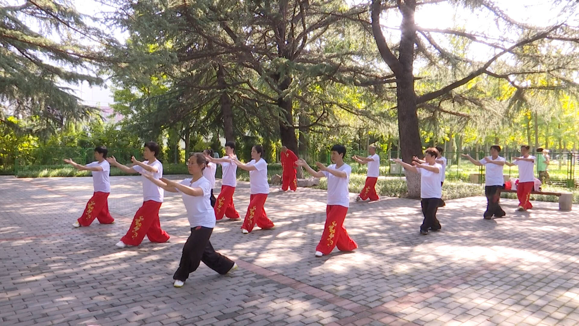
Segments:
[[[98,219],[98,222],[101,224],[115,223],[115,219],[112,218],[111,213],[108,211],[107,198],[108,195],[111,194],[111,183],[109,182],[111,165],[105,160],[107,153],[107,147],[98,146],[94,148],[94,159],[96,161],[87,165],[75,163],[71,158],[64,160],[64,162],[74,166],[75,169],[80,171],[87,170],[93,175],[93,197],[90,197],[86,203],[86,208],[82,216],[72,224],[74,227],[89,226],[95,218]]]

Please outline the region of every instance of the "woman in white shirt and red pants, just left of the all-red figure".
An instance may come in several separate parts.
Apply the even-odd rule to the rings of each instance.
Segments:
[[[248,234],[253,230],[255,224],[261,229],[272,229],[273,222],[267,218],[263,205],[269,194],[269,183],[267,183],[267,162],[263,160],[263,146],[255,145],[251,148],[252,160],[248,164],[243,164],[235,155],[229,155],[232,161],[241,169],[250,172],[251,197],[250,205],[247,207],[245,219],[241,226],[241,233]]]

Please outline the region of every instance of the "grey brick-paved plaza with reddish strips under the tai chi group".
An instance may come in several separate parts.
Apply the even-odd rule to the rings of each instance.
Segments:
[[[0,181],[2,325],[579,324],[579,207],[521,213],[504,200],[507,218],[483,220],[484,197],[447,201],[442,231],[421,236],[419,201],[351,194],[345,226],[360,248],[315,258],[325,191],[272,189],[275,229],[214,229],[212,244],[240,269],[219,276],[201,264],[174,288],[189,235],[179,195],[160,211],[170,242],[117,249],[141,204],[139,177],[111,178],[115,224],[79,229],[90,178]],[[248,199],[240,183],[242,216]]]

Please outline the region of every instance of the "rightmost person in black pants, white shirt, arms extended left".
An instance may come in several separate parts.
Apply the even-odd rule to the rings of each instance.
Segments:
[[[502,218],[507,215],[499,204],[501,190],[504,189],[503,168],[506,162],[503,157],[499,156],[499,153],[501,153],[501,147],[493,145],[490,146],[490,157],[485,157],[480,161],[468,154],[462,154],[462,157],[468,158],[472,164],[485,166],[486,211],[482,215],[485,220],[490,220],[493,216]]]

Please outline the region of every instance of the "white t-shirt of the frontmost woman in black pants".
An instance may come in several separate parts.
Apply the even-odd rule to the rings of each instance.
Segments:
[[[183,204],[185,204],[185,209],[187,210],[189,225],[191,227],[204,226],[214,228],[215,211],[211,207],[211,201],[209,200],[211,195],[211,182],[204,176],[193,183],[191,183],[191,180],[193,179],[188,178],[179,183],[192,188],[201,188],[203,190],[203,195],[190,196],[179,190],[179,193],[181,193],[181,197],[183,198]]]

